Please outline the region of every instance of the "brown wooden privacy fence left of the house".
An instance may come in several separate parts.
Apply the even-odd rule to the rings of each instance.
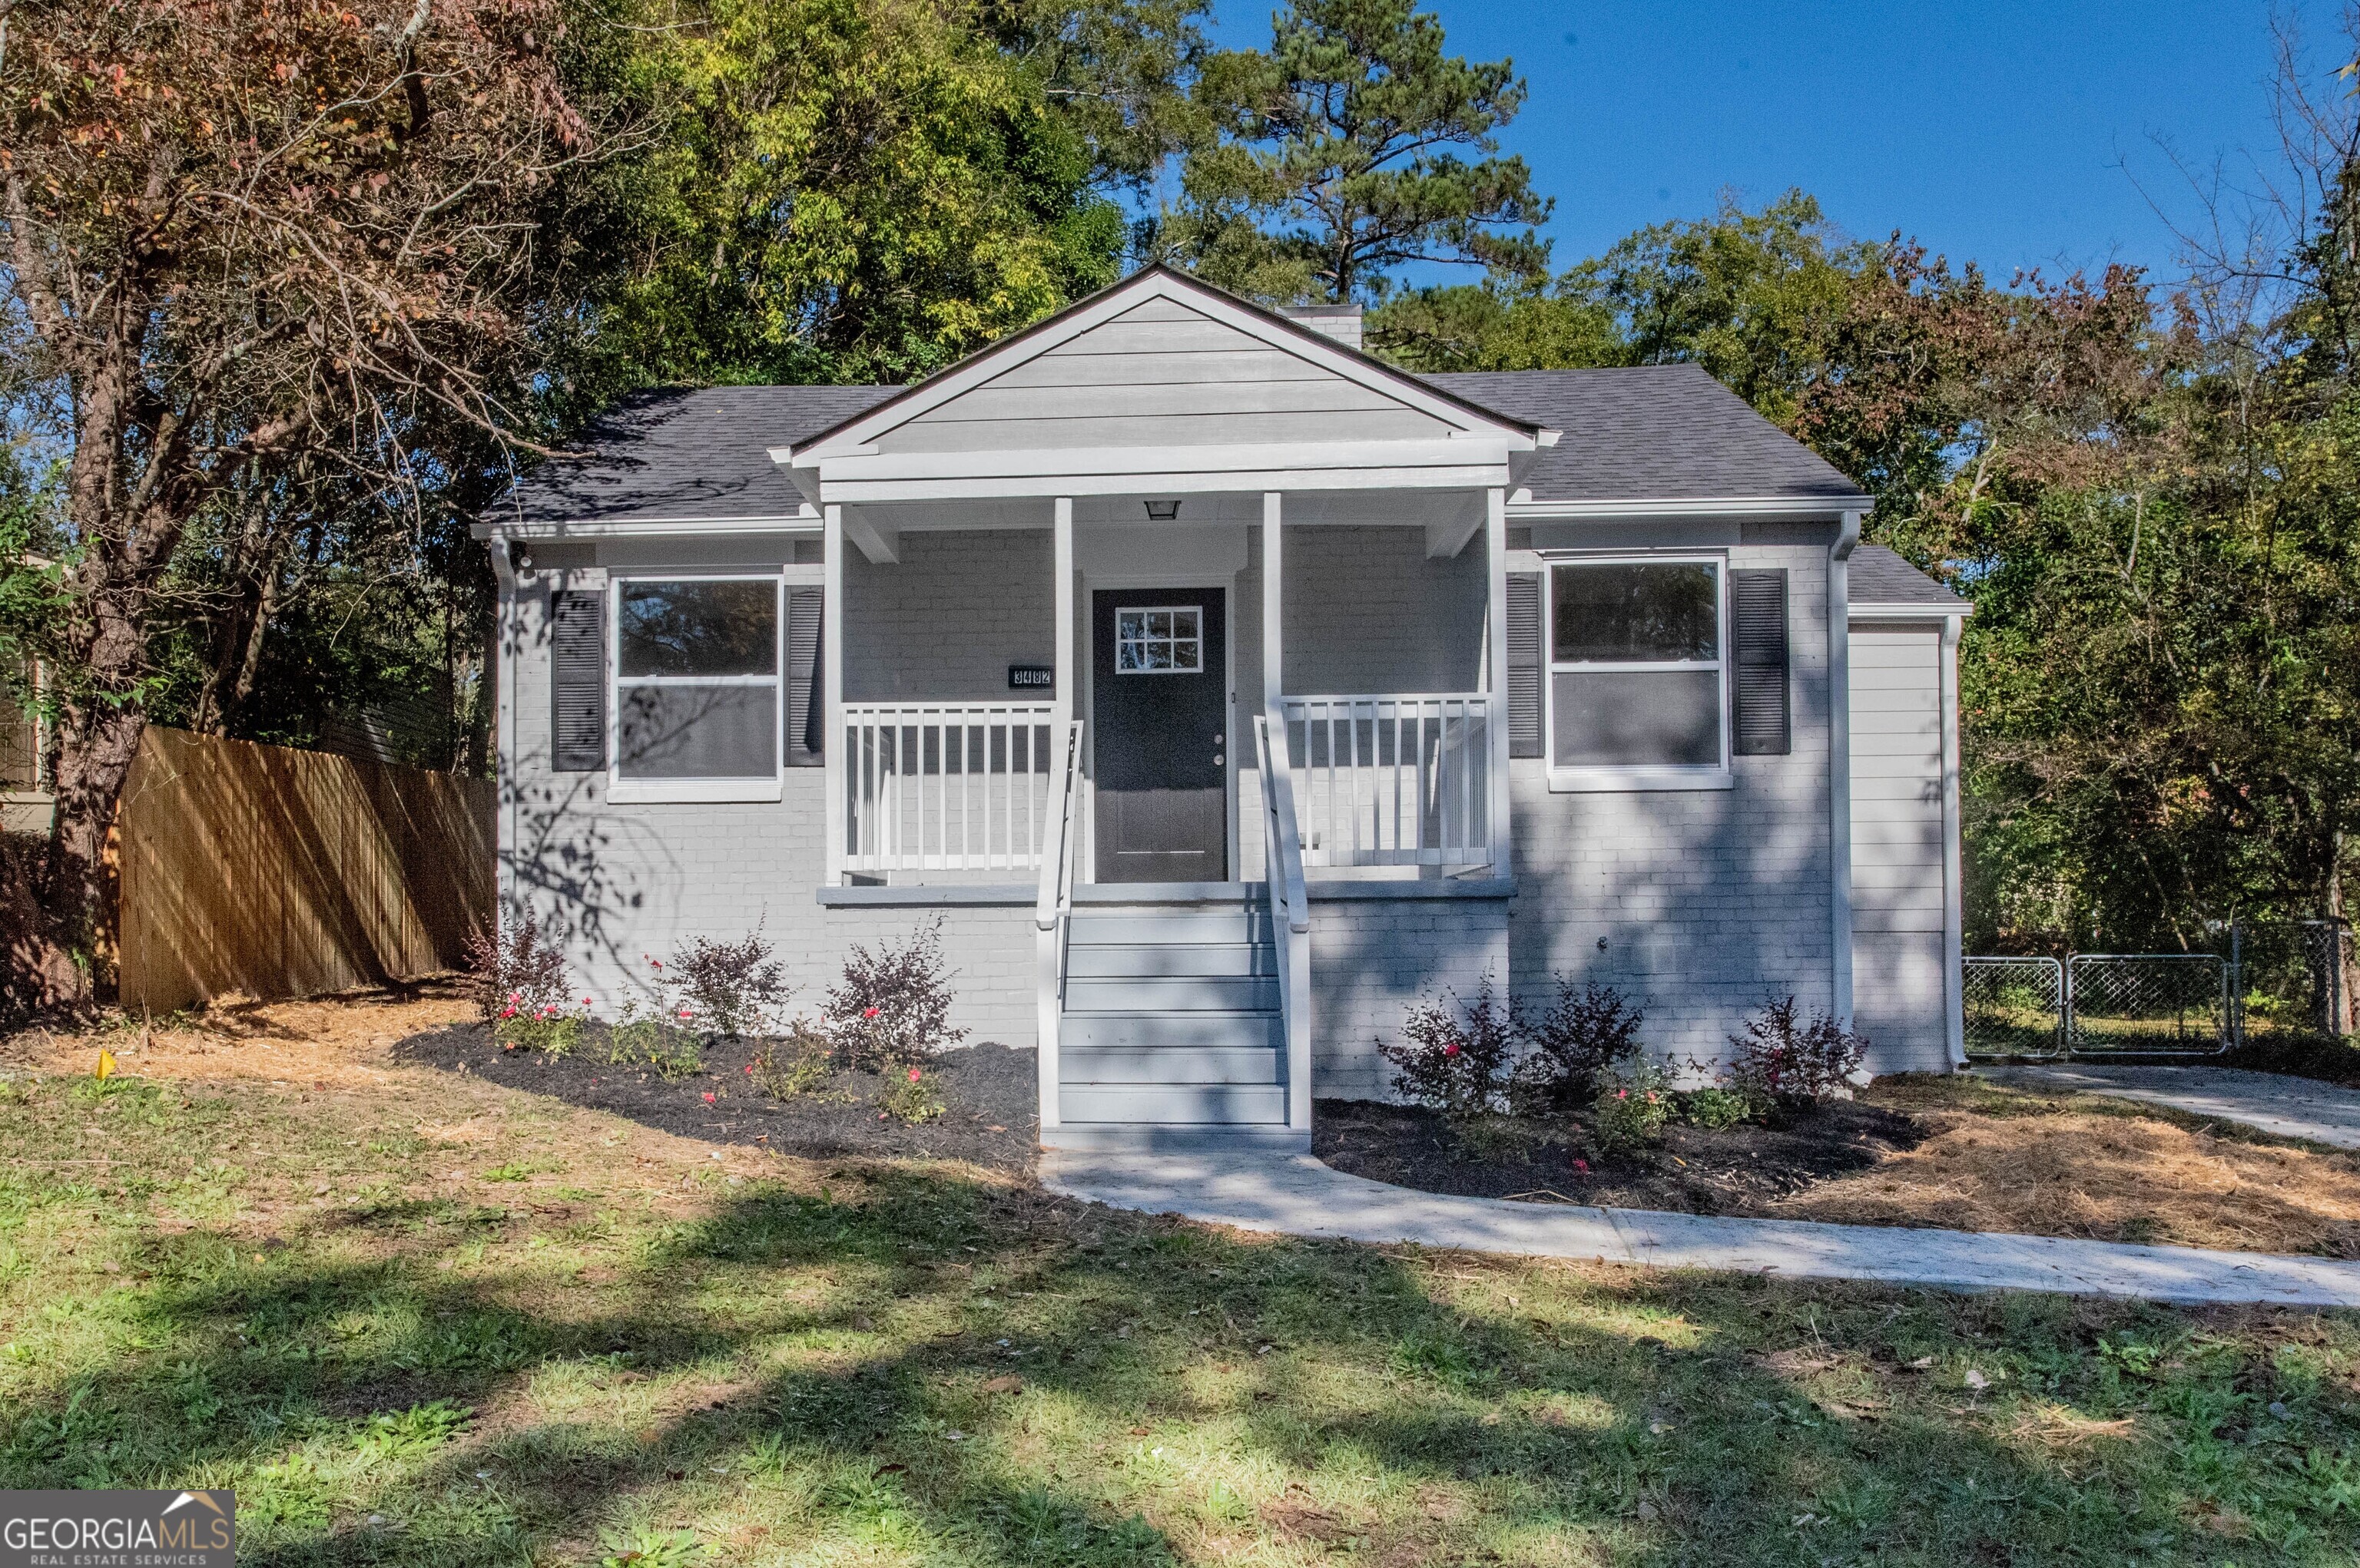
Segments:
[[[123,1007],[455,969],[493,920],[493,792],[151,724],[116,818]]]

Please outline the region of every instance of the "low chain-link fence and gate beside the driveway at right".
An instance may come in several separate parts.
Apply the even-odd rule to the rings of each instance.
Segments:
[[[2353,1033],[2351,927],[2237,927],[2228,953],[1966,960],[1968,1056],[2211,1056],[2249,1035]]]

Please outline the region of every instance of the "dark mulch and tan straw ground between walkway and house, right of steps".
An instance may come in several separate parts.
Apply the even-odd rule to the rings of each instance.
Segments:
[[[1319,1101],[1312,1151],[1473,1198],[2360,1257],[2360,1155],[1973,1078],[1897,1075],[1770,1125],[1673,1127],[1631,1160],[1598,1160],[1579,1129],[1468,1139],[1430,1111]]]

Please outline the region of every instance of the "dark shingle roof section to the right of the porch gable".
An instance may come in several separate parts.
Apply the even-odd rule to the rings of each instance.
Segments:
[[[1428,375],[1468,401],[1562,431],[1525,474],[1532,500],[1867,502],[1824,457],[1704,365]]]

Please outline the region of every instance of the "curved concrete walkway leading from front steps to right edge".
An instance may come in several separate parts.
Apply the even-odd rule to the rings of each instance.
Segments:
[[[1246,1231],[1940,1290],[2360,1306],[2360,1264],[2048,1236],[1716,1219],[1414,1193],[1284,1153],[1043,1151],[1057,1193]]]

